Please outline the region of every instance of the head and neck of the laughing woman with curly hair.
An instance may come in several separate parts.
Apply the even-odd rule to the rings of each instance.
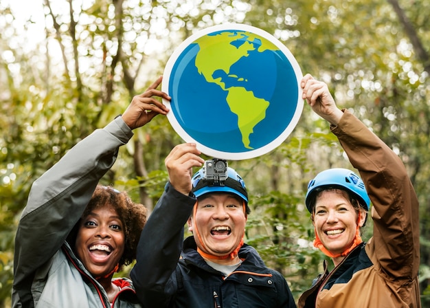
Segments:
[[[112,303],[124,286],[113,274],[136,256],[139,234],[146,223],[146,208],[134,203],[126,192],[98,185],[68,237],[78,259],[108,293]]]

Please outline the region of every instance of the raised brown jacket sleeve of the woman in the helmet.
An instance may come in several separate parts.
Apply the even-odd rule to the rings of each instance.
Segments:
[[[413,280],[420,265],[418,199],[403,162],[348,110],[332,132],[372,201],[374,230],[367,254],[388,279]]]

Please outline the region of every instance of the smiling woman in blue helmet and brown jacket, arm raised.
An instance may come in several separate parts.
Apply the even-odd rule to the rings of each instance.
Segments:
[[[399,157],[348,110],[339,109],[325,83],[307,74],[302,98],[327,120],[352,166],[330,168],[309,181],[306,208],[315,226],[315,247],[335,268],[313,281],[300,308],[420,307],[418,199]],[[360,228],[370,217],[373,236]]]

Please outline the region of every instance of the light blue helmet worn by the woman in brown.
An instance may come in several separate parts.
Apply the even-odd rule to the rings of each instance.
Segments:
[[[358,199],[362,208],[369,210],[370,198],[360,177],[345,168],[331,168],[321,171],[314,179],[309,181],[305,202],[306,208],[308,208],[310,213],[312,213],[313,206],[311,202],[315,199],[315,195],[321,190],[328,188],[339,188],[350,192]]]

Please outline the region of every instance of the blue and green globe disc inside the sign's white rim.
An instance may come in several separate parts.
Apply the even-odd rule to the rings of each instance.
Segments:
[[[203,43],[191,43],[178,56],[169,80],[170,108],[179,125],[196,142],[216,151],[242,153],[266,146],[285,131],[297,107],[297,79],[285,54],[273,44],[268,48],[268,44],[271,43],[256,34],[223,30],[207,34]],[[240,48],[246,48],[246,52]],[[231,58],[234,63],[226,66],[226,57],[228,63],[228,57],[235,54],[231,51],[236,49],[243,56],[238,56],[237,61]],[[196,65],[201,52],[208,57],[208,67]],[[233,89],[251,95],[252,101],[255,98],[267,103],[261,114],[257,112],[262,120],[256,120],[255,126],[247,126],[246,120],[245,129],[238,126],[238,117],[242,113],[248,116],[258,105],[251,104],[248,96],[231,95],[236,93]],[[231,109],[232,99],[236,100],[235,108],[239,106],[236,113]]]

